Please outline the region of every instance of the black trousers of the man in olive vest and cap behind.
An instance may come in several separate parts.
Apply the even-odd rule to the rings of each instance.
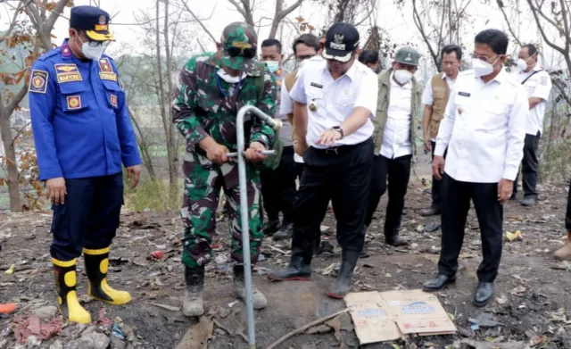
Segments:
[[[385,237],[392,238],[399,235],[404,210],[404,195],[407,194],[409,186],[411,160],[412,155],[395,159],[375,155],[365,225],[371,224],[381,196],[385,194],[388,179],[389,202],[386,206]]]

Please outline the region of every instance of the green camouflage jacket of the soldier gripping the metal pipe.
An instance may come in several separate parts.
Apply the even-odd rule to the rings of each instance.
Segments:
[[[228,150],[236,151],[236,116],[244,105],[255,105],[268,115],[276,112],[277,84],[271,72],[266,71],[264,75],[264,90],[258,101],[255,77],[260,76],[260,71],[252,71],[244,78],[235,94],[236,85],[217,79],[219,68],[219,55],[204,53],[193,56],[180,72],[180,88],[172,104],[172,120],[186,137],[186,152],[204,155],[198,143],[208,136]],[[250,142],[261,142],[266,148],[273,145],[273,129],[259,118],[253,117],[249,122],[252,126],[247,128],[246,124],[246,131],[249,129]]]

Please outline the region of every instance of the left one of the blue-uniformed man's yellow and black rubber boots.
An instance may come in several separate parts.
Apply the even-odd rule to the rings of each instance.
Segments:
[[[78,283],[75,271],[76,260],[68,262],[52,258],[54,263],[55,289],[57,290],[57,307],[66,320],[79,323],[91,322],[91,315],[79,304],[76,285]]]

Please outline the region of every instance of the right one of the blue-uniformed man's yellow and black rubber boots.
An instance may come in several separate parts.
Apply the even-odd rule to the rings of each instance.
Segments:
[[[87,295],[112,305],[122,305],[131,301],[131,295],[126,291],[117,291],[107,285],[107,270],[109,269],[109,247],[99,250],[83,249],[86,261],[89,287]]]

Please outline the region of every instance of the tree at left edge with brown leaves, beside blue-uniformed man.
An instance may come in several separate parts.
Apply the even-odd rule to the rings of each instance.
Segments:
[[[25,76],[27,79],[3,79],[4,85],[17,85],[21,81],[23,81],[23,84],[16,94],[9,94],[3,91],[3,96],[0,98],[0,133],[6,153],[7,182],[10,195],[10,210],[12,212],[21,212],[22,204],[20,196],[20,176],[16,162],[14,137],[12,136],[11,129],[11,116],[28,94],[28,84],[26,81],[29,79],[29,68],[33,62],[36,61],[40,51],[49,51],[53,48],[51,35],[55,21],[60,17],[63,8],[70,3],[69,0],[59,0],[50,3],[47,1],[34,2],[31,0],[21,0],[16,7],[6,3],[6,5],[12,6],[11,10],[14,14],[9,29],[2,37],[4,44],[0,45],[9,46],[12,42],[16,45],[26,46],[29,50],[29,56],[21,71],[21,76]],[[24,13],[29,20],[30,28],[26,28],[25,24],[19,21],[19,18]],[[33,30],[37,38],[23,34],[27,30]]]

